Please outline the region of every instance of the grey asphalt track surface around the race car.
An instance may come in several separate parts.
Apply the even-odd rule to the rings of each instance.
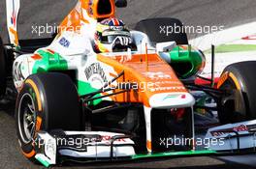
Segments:
[[[18,32],[21,39],[39,37],[32,34],[32,25],[49,25],[59,23],[76,4],[75,0],[21,0],[21,11],[18,20]],[[177,17],[185,25],[224,25],[225,28],[255,20],[255,0],[129,0],[126,9],[117,10],[130,27],[139,20],[148,17]],[[5,0],[0,2],[0,35],[8,42],[5,19]],[[189,38],[200,35],[191,34]],[[0,168],[28,169],[43,168],[26,160],[19,152],[14,120],[14,103],[0,106]],[[147,161],[132,164],[83,165],[72,168],[255,168],[254,155],[227,157],[190,157],[173,158],[165,161]],[[239,163],[238,163],[239,162]],[[254,167],[253,167],[254,166]],[[70,168],[66,166],[64,168]]]

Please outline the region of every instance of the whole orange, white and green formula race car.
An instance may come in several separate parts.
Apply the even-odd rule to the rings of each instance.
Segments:
[[[220,77],[212,62],[211,78],[202,77],[205,55],[186,34],[159,34],[180,21],[145,19],[128,30],[114,18],[125,0],[79,0],[52,38],[18,40],[20,2],[6,3],[0,96],[17,93],[16,134],[30,160],[48,167],[255,151],[256,62]],[[95,39],[114,45],[102,51]]]

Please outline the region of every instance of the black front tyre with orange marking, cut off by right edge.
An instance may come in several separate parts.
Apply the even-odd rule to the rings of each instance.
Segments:
[[[218,88],[234,90],[237,94],[219,103],[221,124],[256,119],[256,61],[240,62],[228,66],[222,73]]]

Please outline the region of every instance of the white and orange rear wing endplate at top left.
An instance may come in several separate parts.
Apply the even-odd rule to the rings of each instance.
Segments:
[[[16,47],[18,46],[17,16],[20,8],[20,0],[6,0],[7,30],[9,40]]]

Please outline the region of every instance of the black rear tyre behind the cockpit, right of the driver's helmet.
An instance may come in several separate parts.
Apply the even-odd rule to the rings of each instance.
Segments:
[[[144,32],[151,42],[188,44],[183,24],[176,18],[148,18],[137,23],[135,30]]]

